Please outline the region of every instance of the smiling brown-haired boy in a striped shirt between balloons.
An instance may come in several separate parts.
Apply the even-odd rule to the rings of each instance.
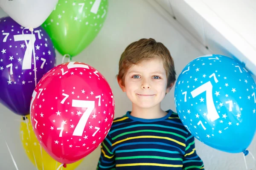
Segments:
[[[121,55],[117,80],[132,111],[114,119],[102,142],[97,169],[204,169],[194,137],[177,113],[160,108],[176,80],[169,50],[151,38],[131,43]]]

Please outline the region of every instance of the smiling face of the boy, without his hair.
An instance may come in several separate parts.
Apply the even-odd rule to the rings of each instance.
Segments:
[[[118,82],[131,102],[140,108],[152,108],[160,104],[173,85],[167,88],[166,71],[160,58],[132,65],[125,74],[125,86],[121,85],[121,80]]]

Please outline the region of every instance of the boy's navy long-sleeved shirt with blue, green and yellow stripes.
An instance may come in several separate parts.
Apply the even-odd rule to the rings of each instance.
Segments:
[[[177,113],[159,119],[125,116],[114,119],[101,144],[97,170],[202,170],[194,137]]]

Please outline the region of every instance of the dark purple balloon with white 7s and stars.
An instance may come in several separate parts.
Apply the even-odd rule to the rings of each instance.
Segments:
[[[55,63],[52,41],[41,26],[34,28],[32,34],[11,17],[0,18],[0,102],[3,105],[16,114],[29,114],[35,85]]]

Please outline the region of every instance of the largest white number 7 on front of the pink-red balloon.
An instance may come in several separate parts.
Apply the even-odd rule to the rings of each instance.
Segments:
[[[84,127],[89,119],[90,113],[92,113],[95,108],[95,101],[87,101],[87,100],[72,100],[72,107],[78,108],[87,108],[86,111],[81,116],[76,128],[73,132],[73,136],[82,136],[84,132]]]

